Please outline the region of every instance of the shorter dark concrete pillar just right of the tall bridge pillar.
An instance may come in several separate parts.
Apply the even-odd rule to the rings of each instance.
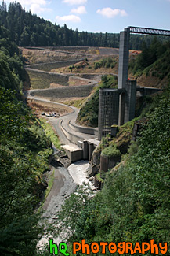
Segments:
[[[135,117],[136,110],[136,80],[126,82],[125,123]]]

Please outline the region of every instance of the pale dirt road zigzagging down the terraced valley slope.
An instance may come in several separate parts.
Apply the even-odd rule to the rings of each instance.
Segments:
[[[67,63],[67,61],[66,61]],[[40,64],[42,65],[42,64]],[[38,66],[38,64],[36,65]],[[34,72],[43,72],[43,73],[47,73],[49,75],[55,75],[54,72],[46,72],[46,71],[42,71],[42,70],[39,70],[39,69],[31,69],[31,65],[28,65],[28,67],[26,66],[25,69],[28,69],[28,70],[34,70]],[[58,76],[59,74],[56,74],[56,76]],[[63,74],[60,74],[60,76],[65,76]],[[67,76],[67,77],[70,77],[70,76]],[[59,135],[60,137],[60,140],[62,143],[64,144],[68,144],[68,145],[71,145],[72,147],[74,147],[74,142],[71,141],[70,139],[67,139],[67,136],[63,133],[63,129],[69,133],[71,133],[72,135],[76,135],[77,137],[81,138],[81,140],[85,139],[94,139],[96,136],[95,135],[90,135],[90,134],[86,134],[84,132],[75,132],[74,130],[71,129],[71,126],[69,126],[69,122],[71,121],[73,124],[75,124],[75,121],[78,117],[78,112],[79,112],[79,109],[77,109],[76,107],[74,106],[67,106],[67,105],[64,105],[63,103],[59,103],[59,102],[53,102],[52,100],[49,100],[47,98],[42,98],[42,97],[38,97],[38,92],[41,93],[41,91],[47,91],[47,92],[50,92],[51,94],[54,94],[54,91],[55,91],[55,95],[57,95],[57,91],[60,92],[60,94],[62,95],[62,91],[71,91],[72,89],[74,89],[73,93],[76,94],[76,91],[77,93],[81,93],[82,89],[83,90],[86,90],[86,89],[90,89],[92,90],[92,87],[96,86],[97,84],[97,81],[96,80],[89,80],[89,79],[85,79],[85,78],[80,78],[78,76],[73,76],[73,74],[71,74],[71,77],[75,77],[75,79],[77,80],[84,80],[84,81],[87,81],[87,84],[86,85],[81,85],[81,86],[63,86],[63,87],[60,87],[60,88],[49,88],[49,89],[38,89],[38,90],[29,90],[29,91],[25,91],[24,92],[24,95],[26,98],[32,98],[36,101],[41,101],[41,102],[48,102],[48,103],[52,103],[58,107],[64,107],[64,108],[69,108],[71,109],[71,113],[67,113],[65,115],[63,115],[62,117],[59,117],[59,118],[52,118],[52,117],[49,117],[50,118],[50,121],[52,121],[52,125],[53,127],[56,129],[56,133],[57,135]],[[90,84],[89,84],[90,83]],[[36,95],[37,94],[37,95]],[[77,95],[74,95],[75,97]],[[61,121],[62,121],[62,127],[63,129],[61,128]]]

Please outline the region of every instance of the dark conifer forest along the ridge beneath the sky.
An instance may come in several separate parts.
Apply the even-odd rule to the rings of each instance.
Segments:
[[[103,46],[119,47],[119,34],[78,32],[60,27],[27,12],[18,2],[0,6],[0,24],[10,32],[10,39],[18,46]],[[131,35],[130,49],[141,50],[143,41],[150,45],[153,36]],[[165,40],[164,37],[160,38]]]

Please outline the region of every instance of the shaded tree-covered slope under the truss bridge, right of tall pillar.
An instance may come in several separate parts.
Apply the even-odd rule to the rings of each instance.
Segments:
[[[170,41],[162,44],[155,37],[150,46],[143,43],[142,54],[130,61],[129,71],[135,76],[137,82],[150,78],[150,82],[153,80],[154,86],[165,85],[170,79],[169,60]]]

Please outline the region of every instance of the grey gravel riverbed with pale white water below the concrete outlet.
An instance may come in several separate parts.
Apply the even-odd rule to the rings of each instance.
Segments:
[[[49,223],[55,221],[57,212],[63,205],[65,199],[75,191],[77,185],[81,185],[84,182],[89,183],[92,189],[95,189],[92,182],[87,178],[87,169],[89,167],[88,161],[77,161],[74,164],[69,165],[68,168],[63,167],[62,164],[57,161],[53,163],[51,171],[54,172],[54,182],[49,195],[45,199],[43,205],[45,217]],[[49,235],[45,235],[38,243],[38,247],[43,247],[49,243]],[[61,238],[54,239],[55,243],[60,243]]]

